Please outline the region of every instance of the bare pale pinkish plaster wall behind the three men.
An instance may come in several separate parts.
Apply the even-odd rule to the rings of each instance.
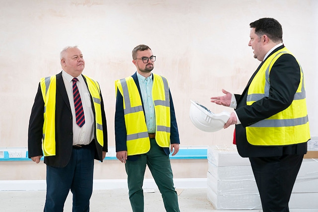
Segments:
[[[83,73],[100,83],[114,146],[114,81],[136,71],[131,51],[138,44],[152,48],[153,72],[169,81],[181,145],[230,144],[233,126],[204,133],[192,125],[190,99],[216,113],[232,111],[209,99],[222,95],[222,88],[244,89],[260,63],[247,46],[249,23],[261,17],[282,24],[284,44],[302,64],[311,133],[318,136],[316,0],[0,0],[0,5],[0,147],[27,146],[39,79],[61,71],[59,53],[68,45],[79,45]],[[0,167],[14,164],[18,173],[26,163],[29,170],[41,166],[1,162]],[[184,164],[175,172],[189,170],[182,175],[188,177],[192,170]],[[120,169],[112,166],[111,172]],[[2,172],[1,178],[6,179]]]

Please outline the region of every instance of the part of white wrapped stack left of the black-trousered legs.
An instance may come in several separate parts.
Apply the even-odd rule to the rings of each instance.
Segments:
[[[217,210],[261,209],[249,160],[235,145],[208,147],[207,192]]]

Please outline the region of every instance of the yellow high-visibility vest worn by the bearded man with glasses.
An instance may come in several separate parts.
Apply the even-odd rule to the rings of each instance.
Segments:
[[[170,99],[166,78],[154,75],[152,96],[156,115],[156,141],[161,147],[170,145]],[[150,150],[150,139],[142,100],[133,77],[115,81],[115,89],[123,96],[127,131],[127,154],[144,154]],[[117,95],[117,94],[116,94]]]

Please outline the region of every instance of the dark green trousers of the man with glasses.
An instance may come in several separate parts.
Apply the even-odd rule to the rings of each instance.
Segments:
[[[173,175],[169,156],[155,139],[150,139],[149,152],[141,154],[136,161],[126,161],[129,200],[133,212],[144,212],[143,182],[148,165],[161,193],[166,212],[180,212],[178,196],[173,185]]]

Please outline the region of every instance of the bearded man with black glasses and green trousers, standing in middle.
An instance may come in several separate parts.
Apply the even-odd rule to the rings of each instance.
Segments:
[[[156,56],[146,45],[132,51],[137,68],[116,80],[116,157],[125,164],[133,212],[144,211],[143,181],[148,165],[167,212],[179,212],[169,160],[179,150],[179,133],[168,82],[154,74]]]

